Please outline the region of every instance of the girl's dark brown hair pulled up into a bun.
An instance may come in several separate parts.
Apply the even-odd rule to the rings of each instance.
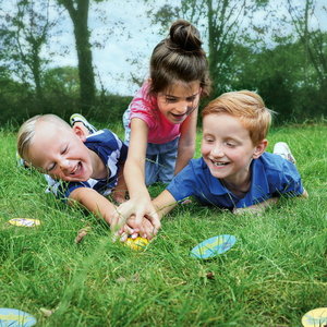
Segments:
[[[166,90],[177,82],[199,82],[202,96],[210,92],[206,53],[198,31],[187,21],[175,21],[150,58],[149,94]]]

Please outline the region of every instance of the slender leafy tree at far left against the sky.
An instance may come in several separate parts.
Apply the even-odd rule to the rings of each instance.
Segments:
[[[41,100],[41,74],[47,60],[40,53],[57,21],[49,17],[49,0],[21,0],[12,9],[2,13],[2,59],[23,82],[33,80],[37,99]]]

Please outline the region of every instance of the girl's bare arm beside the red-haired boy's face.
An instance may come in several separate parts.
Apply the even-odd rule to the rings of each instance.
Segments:
[[[193,158],[196,143],[196,108],[183,122],[181,126],[181,136],[178,147],[178,158],[174,167],[174,174],[179,173]]]

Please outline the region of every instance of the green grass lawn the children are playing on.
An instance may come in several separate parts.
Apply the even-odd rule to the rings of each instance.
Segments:
[[[46,194],[41,175],[16,168],[14,134],[1,131],[1,307],[31,313],[37,326],[301,326],[307,311],[327,306],[326,135],[316,124],[268,137],[268,150],[278,141],[291,146],[307,201],[281,199],[261,216],[193,202],[162,220],[145,252],[133,252],[112,243],[93,215]],[[15,217],[41,226],[9,225]],[[89,234],[75,244],[86,226]],[[190,256],[225,233],[238,239],[229,252],[205,262]],[[46,317],[41,307],[57,310]]]

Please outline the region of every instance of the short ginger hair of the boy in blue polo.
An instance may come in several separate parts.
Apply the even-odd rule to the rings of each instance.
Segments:
[[[244,89],[220,95],[204,108],[202,117],[213,113],[228,113],[238,118],[249,131],[253,144],[257,144],[266,138],[274,111],[266,108],[258,94]]]

